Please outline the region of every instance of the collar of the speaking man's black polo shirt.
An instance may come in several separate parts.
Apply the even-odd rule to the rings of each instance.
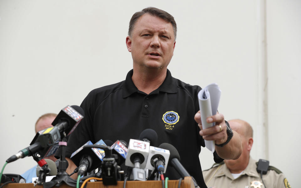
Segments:
[[[130,70],[128,72],[128,74],[126,75],[126,78],[125,78],[125,81],[123,84],[123,91],[122,91],[123,98],[126,98],[135,92],[138,92],[138,89],[132,80],[132,76],[133,76],[133,69]],[[166,93],[177,93],[177,85],[172,77],[172,74],[170,73],[170,71],[168,69],[166,72],[165,80],[163,81],[163,83],[161,84],[161,86],[158,89],[156,89],[154,92],[152,92],[152,94],[159,93],[159,91],[166,92]]]

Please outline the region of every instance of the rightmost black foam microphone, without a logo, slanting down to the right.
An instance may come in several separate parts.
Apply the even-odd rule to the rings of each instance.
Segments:
[[[170,152],[170,160],[168,165],[172,166],[176,169],[176,171],[179,173],[179,175],[184,179],[185,176],[190,176],[190,174],[187,172],[187,170],[182,166],[180,163],[180,155],[177,149],[172,146],[171,144],[168,143],[162,143],[159,146],[162,149],[169,150]],[[192,177],[193,184],[195,187],[199,187],[198,184],[196,183],[195,179]]]

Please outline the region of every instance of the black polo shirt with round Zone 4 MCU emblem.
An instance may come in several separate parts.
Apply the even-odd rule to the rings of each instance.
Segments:
[[[170,143],[177,148],[181,163],[199,186],[205,186],[199,161],[204,145],[194,115],[199,110],[199,86],[191,86],[171,76],[167,70],[162,85],[150,94],[141,92],[132,81],[133,70],[125,81],[92,90],[83,100],[85,114],[71,134],[66,156],[88,140],[137,139],[140,133],[153,129],[158,134],[158,145]],[[174,169],[167,168],[166,177],[178,179]]]

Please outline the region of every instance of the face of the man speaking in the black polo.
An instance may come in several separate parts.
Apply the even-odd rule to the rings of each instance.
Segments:
[[[150,14],[142,15],[134,25],[132,36],[126,38],[134,68],[167,67],[172,59],[175,44],[172,24]]]

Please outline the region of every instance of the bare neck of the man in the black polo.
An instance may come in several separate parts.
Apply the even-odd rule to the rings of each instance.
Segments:
[[[167,68],[137,70],[134,68],[132,80],[139,91],[150,94],[164,82]]]

